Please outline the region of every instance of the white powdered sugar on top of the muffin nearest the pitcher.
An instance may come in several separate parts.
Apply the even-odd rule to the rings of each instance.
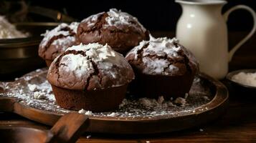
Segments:
[[[144,74],[164,74],[170,75],[179,71],[179,68],[172,65],[167,59],[153,59],[149,56],[165,56],[179,57],[178,51],[181,47],[176,47],[174,43],[179,41],[176,38],[168,39],[166,37],[155,39],[151,36],[149,41],[141,41],[138,46],[128,52],[126,57],[134,54],[134,59],[138,59],[138,51],[143,49],[142,61],[145,66],[143,69]],[[144,46],[148,45],[146,48]]]

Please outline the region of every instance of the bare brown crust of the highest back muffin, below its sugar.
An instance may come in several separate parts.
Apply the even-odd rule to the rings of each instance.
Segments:
[[[88,26],[87,22],[81,22],[77,27],[77,42],[108,44],[115,51],[126,54],[140,41],[149,39],[149,32],[143,32],[139,24],[135,23],[136,21],[133,21],[136,28],[128,25],[120,25],[118,28],[116,26],[103,28],[107,16],[106,12],[100,14],[94,26]]]

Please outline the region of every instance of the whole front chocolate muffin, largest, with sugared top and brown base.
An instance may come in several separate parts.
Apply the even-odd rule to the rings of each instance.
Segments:
[[[134,73],[107,44],[80,44],[54,59],[47,79],[60,107],[101,112],[118,107]]]

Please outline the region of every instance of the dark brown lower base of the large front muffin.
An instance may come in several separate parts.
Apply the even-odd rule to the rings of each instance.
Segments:
[[[127,85],[102,90],[71,90],[55,87],[52,91],[57,104],[65,109],[85,109],[92,112],[105,112],[115,109],[125,98]]]

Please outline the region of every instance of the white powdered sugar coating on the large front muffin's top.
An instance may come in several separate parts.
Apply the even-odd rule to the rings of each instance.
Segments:
[[[65,54],[68,51],[83,51],[85,54]],[[120,69],[132,70],[132,68],[125,58],[118,52],[113,51],[108,44],[104,46],[98,43],[80,44],[66,49],[65,53],[58,66],[58,81],[67,88],[81,89],[81,85],[87,82],[87,77],[95,72],[93,62],[97,65],[102,76],[113,79],[114,83],[111,87],[119,87],[132,80],[128,79],[126,75],[120,75],[123,74],[120,73]],[[60,57],[61,55],[54,59],[53,64]],[[52,65],[49,67],[49,71],[52,71],[52,68],[55,67]],[[99,81],[96,80],[95,82],[99,84]]]

